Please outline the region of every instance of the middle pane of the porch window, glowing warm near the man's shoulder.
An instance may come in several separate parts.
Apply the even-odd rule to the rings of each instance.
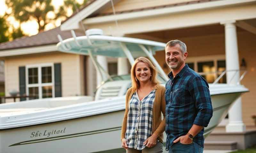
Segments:
[[[202,75],[202,77],[205,78],[205,80],[208,83],[213,83],[215,78],[214,78],[214,73],[209,73],[209,72],[214,72],[214,64],[213,61],[211,62],[198,62],[198,72],[203,72],[205,75]]]

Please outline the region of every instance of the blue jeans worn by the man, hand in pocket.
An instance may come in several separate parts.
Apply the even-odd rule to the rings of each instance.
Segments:
[[[204,148],[198,143],[182,144],[180,142],[174,143],[169,148],[169,153],[203,153]]]

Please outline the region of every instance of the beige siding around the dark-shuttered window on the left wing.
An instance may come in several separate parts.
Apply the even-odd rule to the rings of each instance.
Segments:
[[[46,53],[8,57],[5,59],[6,79],[5,93],[6,96],[13,89],[19,91],[19,66],[43,64],[43,63],[61,63],[61,81],[62,81],[62,96],[82,95],[81,78],[83,78],[82,63],[80,63],[80,55],[67,53]],[[77,77],[78,76],[78,77]],[[12,100],[9,100],[12,101]]]

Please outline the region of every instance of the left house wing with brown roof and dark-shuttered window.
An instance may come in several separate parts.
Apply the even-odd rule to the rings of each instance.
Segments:
[[[63,39],[72,37],[70,31],[60,31],[57,27],[0,44],[0,59],[5,65],[6,96],[10,96],[9,92],[13,90],[19,91],[20,95],[33,96],[31,98],[85,94],[85,71],[81,65],[86,58],[58,52],[58,34]],[[76,35],[82,36],[84,32],[78,30]],[[6,102],[13,102],[13,99],[6,99]]]

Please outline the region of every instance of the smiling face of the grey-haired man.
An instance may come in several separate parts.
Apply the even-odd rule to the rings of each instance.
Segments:
[[[182,54],[180,45],[176,44],[172,47],[165,48],[165,62],[171,69],[179,69],[180,66],[185,62],[188,53]]]

